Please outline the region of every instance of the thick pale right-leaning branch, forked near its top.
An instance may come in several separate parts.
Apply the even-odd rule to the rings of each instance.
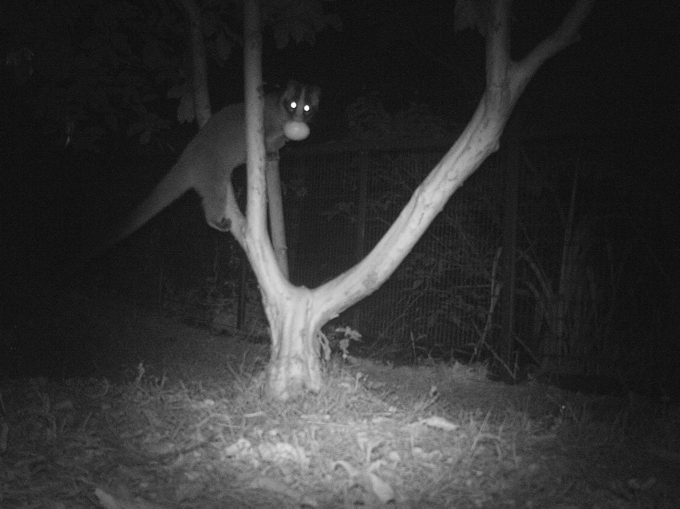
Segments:
[[[313,291],[311,302],[320,312],[339,314],[373,293],[393,274],[451,195],[498,150],[500,134],[526,83],[546,59],[578,40],[578,28],[592,6],[592,0],[578,0],[560,28],[518,64],[509,56],[510,3],[511,0],[497,0],[491,13],[487,89],[473,118],[367,257]]]

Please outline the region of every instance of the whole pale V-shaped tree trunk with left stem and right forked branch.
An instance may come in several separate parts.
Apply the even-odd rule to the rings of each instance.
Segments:
[[[425,229],[465,179],[498,150],[500,134],[525,86],[548,58],[578,40],[578,29],[592,0],[577,0],[555,33],[523,60],[509,58],[509,0],[494,2],[487,29],[487,86],[461,136],[416,188],[395,223],[356,266],[316,289],[295,287],[280,270],[266,227],[266,184],[262,142],[262,47],[256,0],[246,1],[245,60],[248,108],[247,221],[237,217],[235,238],[246,250],[260,284],[271,328],[268,389],[285,400],[304,390],[319,391],[319,329],[354,303],[376,291],[416,244]],[[253,24],[249,17],[257,18]],[[254,106],[254,107],[253,107]],[[239,222],[240,220],[240,222]]]

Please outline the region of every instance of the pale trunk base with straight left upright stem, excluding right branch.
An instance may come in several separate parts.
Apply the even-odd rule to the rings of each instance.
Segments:
[[[284,276],[267,234],[267,179],[265,168],[262,35],[257,0],[244,6],[244,81],[246,90],[246,159],[248,200],[246,218],[232,229],[244,248],[260,284],[262,304],[271,330],[268,387],[285,400],[305,389],[321,388],[321,364],[316,333],[322,314],[311,314],[310,291],[296,288]],[[237,220],[240,218],[237,218]]]

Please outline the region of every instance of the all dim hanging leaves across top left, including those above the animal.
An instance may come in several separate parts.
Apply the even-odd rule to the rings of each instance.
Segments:
[[[240,54],[239,11],[235,1],[203,2],[207,56],[218,67]],[[341,28],[317,0],[272,0],[266,12],[278,47]],[[177,3],[29,1],[7,14],[32,23],[8,34],[3,55],[10,72],[3,84],[16,102],[11,122],[26,122],[28,112],[55,145],[101,152],[125,136],[164,147],[159,135],[172,124],[166,97],[180,99],[180,122],[193,120],[187,22]]]

